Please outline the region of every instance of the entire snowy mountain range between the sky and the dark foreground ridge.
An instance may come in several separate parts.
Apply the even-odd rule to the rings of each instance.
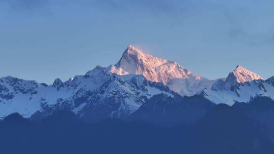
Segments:
[[[153,116],[162,116],[164,111],[168,121],[178,115],[174,114],[175,110],[182,114],[191,108],[199,110],[192,114],[195,117],[192,121],[196,121],[212,104],[248,103],[257,97],[274,98],[274,76],[263,80],[237,65],[227,78],[209,80],[176,62],[128,46],[116,64],[96,66],[65,82],[56,79],[47,85],[12,76],[1,78],[0,119],[17,112],[24,118],[39,120],[68,110],[87,122],[106,118],[138,119],[140,113],[155,120],[150,115],[161,108]],[[170,101],[158,104],[156,100],[162,98]]]

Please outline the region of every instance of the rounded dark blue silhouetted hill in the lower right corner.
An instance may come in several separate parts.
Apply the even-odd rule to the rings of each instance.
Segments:
[[[274,144],[266,132],[244,113],[219,104],[182,137],[188,139],[185,150],[190,153],[273,153]]]

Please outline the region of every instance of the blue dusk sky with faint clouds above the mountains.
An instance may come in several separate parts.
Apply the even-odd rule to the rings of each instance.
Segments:
[[[116,63],[127,45],[209,79],[274,75],[272,0],[0,0],[0,76],[51,84]]]

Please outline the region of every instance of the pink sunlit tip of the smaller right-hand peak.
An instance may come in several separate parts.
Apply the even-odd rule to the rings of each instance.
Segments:
[[[263,80],[263,78],[243,66],[237,65],[236,69],[228,75],[227,80],[234,80],[237,83],[245,83],[253,80]]]

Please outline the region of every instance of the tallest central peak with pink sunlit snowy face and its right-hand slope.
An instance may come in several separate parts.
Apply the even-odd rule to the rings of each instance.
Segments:
[[[142,53],[133,46],[129,46],[119,62],[109,66],[109,70],[119,75],[142,74],[148,80],[163,83],[183,96],[210,89],[215,82],[192,73],[176,62]]]

